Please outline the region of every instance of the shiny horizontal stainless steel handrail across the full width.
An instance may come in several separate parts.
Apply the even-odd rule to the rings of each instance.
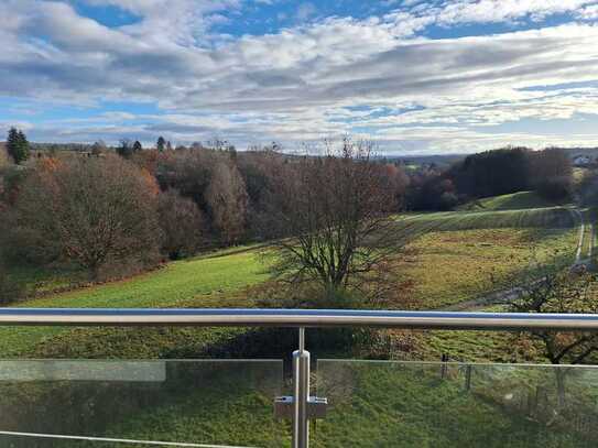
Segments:
[[[0,308],[0,325],[598,331],[598,315],[254,308]]]

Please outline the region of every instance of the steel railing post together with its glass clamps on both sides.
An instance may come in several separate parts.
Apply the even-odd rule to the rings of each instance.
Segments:
[[[309,396],[309,352],[305,350],[305,329],[300,328],[298,350],[293,352],[293,396],[274,401],[276,418],[293,419],[293,448],[309,446],[309,419],[324,418],[327,398]]]

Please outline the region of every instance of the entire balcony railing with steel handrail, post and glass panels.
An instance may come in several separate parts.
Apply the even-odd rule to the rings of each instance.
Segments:
[[[2,308],[0,325],[298,328],[287,395],[281,360],[0,361],[0,446],[598,444],[598,368],[318,359],[314,374],[305,347],[315,327],[598,331],[598,315]]]

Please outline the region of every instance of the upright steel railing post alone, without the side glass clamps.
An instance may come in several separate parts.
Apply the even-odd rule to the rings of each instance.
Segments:
[[[293,352],[293,448],[309,446],[309,352],[305,350],[305,328],[298,331],[298,350]]]

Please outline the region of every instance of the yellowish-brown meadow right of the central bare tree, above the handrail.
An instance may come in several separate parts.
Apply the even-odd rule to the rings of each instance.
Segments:
[[[406,303],[418,309],[439,308],[501,287],[505,278],[526,271],[533,259],[573,262],[577,236],[574,229],[537,228],[426,233],[410,244],[400,262],[398,273],[412,285]]]

